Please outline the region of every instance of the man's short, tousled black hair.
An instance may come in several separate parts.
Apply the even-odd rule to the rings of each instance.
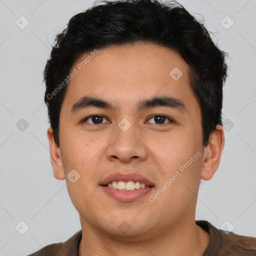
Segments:
[[[207,145],[216,125],[222,125],[228,54],[213,43],[203,21],[196,20],[176,1],[101,0],[71,17],[67,27],[56,35],[43,71],[44,101],[58,147],[60,108],[73,63],[95,49],[140,42],[176,50],[189,65],[190,86],[201,110],[202,144]]]

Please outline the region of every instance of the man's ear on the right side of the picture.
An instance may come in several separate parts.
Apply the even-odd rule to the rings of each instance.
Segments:
[[[221,125],[210,134],[209,142],[203,149],[203,165],[201,179],[209,180],[218,168],[222,149],[224,147],[224,131]]]

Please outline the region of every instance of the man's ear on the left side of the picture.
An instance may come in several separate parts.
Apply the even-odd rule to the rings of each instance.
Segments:
[[[53,130],[51,127],[47,129],[47,137],[50,149],[50,162],[53,168],[53,175],[56,179],[64,179],[65,173],[63,169],[60,149],[54,141]]]

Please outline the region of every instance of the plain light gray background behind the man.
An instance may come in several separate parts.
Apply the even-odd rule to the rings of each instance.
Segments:
[[[80,229],[65,180],[52,173],[42,70],[55,34],[92,2],[0,0],[0,255],[27,255]],[[225,146],[217,172],[199,188],[196,219],[256,236],[256,1],[179,2],[197,18],[204,16],[214,42],[230,55],[223,88]],[[23,29],[15,23],[25,24],[21,15],[29,21]],[[28,123],[23,131],[21,118]],[[20,221],[29,226],[24,234]]]

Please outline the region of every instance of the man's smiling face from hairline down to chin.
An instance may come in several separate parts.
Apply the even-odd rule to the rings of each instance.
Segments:
[[[61,106],[60,160],[53,166],[55,177],[66,179],[81,225],[120,237],[151,237],[194,220],[207,149],[189,66],[173,50],[137,44],[99,49],[79,70],[87,54],[71,69],[78,72]],[[84,96],[112,108],[81,103]],[[162,100],[138,104],[154,97]],[[137,173],[152,186],[140,188],[140,196],[139,189],[112,192],[102,183],[114,173]],[[122,232],[123,227],[129,231]]]

